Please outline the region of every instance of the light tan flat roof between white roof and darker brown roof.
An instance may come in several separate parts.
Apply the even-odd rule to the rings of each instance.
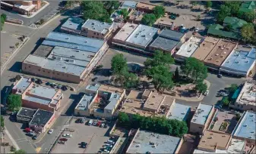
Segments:
[[[204,60],[208,54],[210,54],[210,51],[213,50],[213,48],[216,46],[217,42],[219,42],[219,38],[212,38],[207,37],[204,39],[204,42],[201,43],[199,48],[194,51],[194,53],[191,55],[191,57],[197,58],[198,60]]]

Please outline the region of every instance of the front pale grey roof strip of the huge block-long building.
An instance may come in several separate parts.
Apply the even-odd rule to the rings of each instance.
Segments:
[[[55,70],[58,72],[70,73],[73,75],[81,75],[86,66],[77,66],[75,61],[65,61],[63,59],[48,59],[44,57],[36,57],[30,54],[23,63],[40,66],[44,69]]]

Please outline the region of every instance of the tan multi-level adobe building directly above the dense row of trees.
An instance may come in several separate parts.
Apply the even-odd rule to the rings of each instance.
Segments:
[[[134,114],[166,117],[172,103],[175,103],[175,99],[163,94],[148,90],[143,92],[131,90],[119,112],[125,112],[129,117]]]

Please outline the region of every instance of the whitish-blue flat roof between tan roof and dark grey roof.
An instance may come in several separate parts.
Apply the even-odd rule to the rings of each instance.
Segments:
[[[158,30],[151,26],[139,25],[127,38],[126,42],[147,47]]]

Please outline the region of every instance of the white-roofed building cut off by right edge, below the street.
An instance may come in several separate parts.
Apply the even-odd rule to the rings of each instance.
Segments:
[[[230,103],[229,107],[242,111],[252,110],[256,112],[256,85],[245,82],[239,97],[236,98],[234,103]]]

